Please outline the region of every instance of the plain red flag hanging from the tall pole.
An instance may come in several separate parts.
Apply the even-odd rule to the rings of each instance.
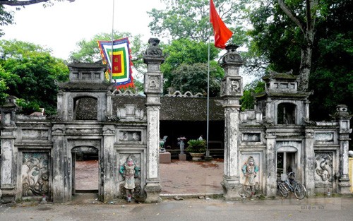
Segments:
[[[225,43],[232,37],[233,32],[227,28],[222,18],[218,15],[213,0],[210,0],[210,23],[213,25],[215,47],[225,49]]]

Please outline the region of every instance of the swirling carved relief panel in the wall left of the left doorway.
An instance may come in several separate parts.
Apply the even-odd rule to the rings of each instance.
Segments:
[[[49,193],[47,153],[23,153],[22,196],[43,196]]]

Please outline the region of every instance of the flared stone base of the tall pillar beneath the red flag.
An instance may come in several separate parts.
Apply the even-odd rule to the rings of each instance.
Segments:
[[[241,198],[239,191],[242,185],[239,183],[239,178],[224,177],[221,185],[223,186],[223,197],[226,201],[237,201]]]

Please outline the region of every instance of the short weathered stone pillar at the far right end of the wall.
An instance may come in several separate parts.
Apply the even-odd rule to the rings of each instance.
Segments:
[[[338,131],[338,141],[340,143],[340,179],[338,183],[338,192],[342,194],[350,194],[348,177],[348,150],[349,150],[349,133],[352,129],[349,127],[349,120],[352,115],[349,115],[346,105],[337,105],[335,118],[340,125]]]

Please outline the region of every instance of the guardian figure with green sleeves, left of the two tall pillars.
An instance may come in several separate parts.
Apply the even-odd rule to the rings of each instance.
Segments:
[[[124,163],[124,165],[121,165],[119,172],[121,176],[124,178],[124,189],[126,192],[126,200],[128,201],[128,203],[130,203],[133,197],[133,193],[135,192],[135,189],[137,187],[135,183],[135,179],[139,178],[140,167],[137,167],[135,165],[135,162],[133,162],[131,155],[129,155],[128,158],[126,159],[126,163]]]

